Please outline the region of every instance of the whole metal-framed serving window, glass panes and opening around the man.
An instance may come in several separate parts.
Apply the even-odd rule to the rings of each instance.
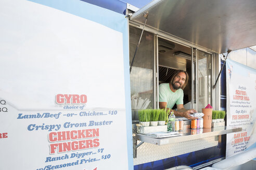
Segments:
[[[130,26],[130,66],[141,33]],[[184,108],[201,112],[201,108],[212,105],[212,54],[144,31],[130,73],[134,123],[138,122],[138,110],[159,108],[159,84],[169,83],[177,69],[189,75],[183,90]]]

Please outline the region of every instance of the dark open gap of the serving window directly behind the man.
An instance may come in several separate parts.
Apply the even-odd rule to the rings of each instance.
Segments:
[[[184,107],[191,108],[191,48],[174,43],[167,39],[158,38],[158,85],[170,83],[175,70],[188,73],[188,84],[183,90]],[[176,108],[176,104],[173,109]]]

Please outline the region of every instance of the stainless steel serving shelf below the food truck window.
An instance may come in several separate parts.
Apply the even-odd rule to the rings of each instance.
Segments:
[[[224,135],[224,134],[233,133],[233,132],[240,132],[240,131],[242,131],[242,127],[234,127],[233,129],[226,129],[226,126],[222,126],[222,127],[214,127],[211,129],[204,128],[201,130],[188,129],[188,131],[186,131],[187,133],[183,134],[183,132],[180,132],[182,136],[166,137],[166,138],[153,138],[146,135],[136,134],[136,136],[134,136],[134,139],[140,140],[142,142],[162,146],[162,145],[179,143],[182,141],[195,140],[195,139],[200,139],[200,138],[205,138],[210,136],[219,136],[219,135]]]

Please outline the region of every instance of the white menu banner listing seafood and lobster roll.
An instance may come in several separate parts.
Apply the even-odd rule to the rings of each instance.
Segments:
[[[256,70],[235,61],[226,61],[227,128],[242,132],[227,134],[226,157],[256,144]]]

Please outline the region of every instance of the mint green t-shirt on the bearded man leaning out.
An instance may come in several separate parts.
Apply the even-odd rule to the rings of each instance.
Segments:
[[[172,92],[169,83],[162,83],[159,85],[159,102],[167,102],[167,108],[172,109],[174,104],[183,104],[183,90],[178,89]]]

